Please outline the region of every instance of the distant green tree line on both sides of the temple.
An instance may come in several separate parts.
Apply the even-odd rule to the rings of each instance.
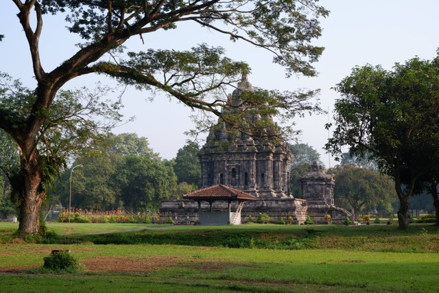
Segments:
[[[18,158],[16,151],[6,148],[7,145],[3,144],[1,156],[13,167]],[[323,163],[320,154],[306,143],[290,144],[289,149],[292,152],[290,190],[295,198],[302,198],[300,178],[314,161]],[[99,148],[79,156],[64,170],[49,189],[46,209],[58,203],[69,207],[70,176],[71,206],[77,209],[131,212],[157,209],[161,200],[180,199],[200,187],[199,150],[197,143],[188,142],[178,150],[175,159],[166,160],[150,148],[144,137],[134,133],[108,134]],[[380,217],[394,213],[397,202],[392,178],[380,174],[373,161],[348,153],[342,158],[340,165],[327,170],[335,176],[335,204],[353,211],[355,218],[371,211]],[[1,218],[16,213],[10,191],[7,176],[0,174]],[[413,209],[434,211],[432,201],[423,195],[412,198],[411,205]]]

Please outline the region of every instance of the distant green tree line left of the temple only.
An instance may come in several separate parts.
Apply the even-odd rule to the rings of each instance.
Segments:
[[[2,145],[0,155],[3,162],[9,158],[12,168],[18,152],[6,146],[8,143]],[[144,137],[134,133],[108,134],[99,146],[78,156],[64,169],[49,189],[46,210],[59,203],[69,207],[70,179],[71,207],[131,212],[156,209],[161,200],[178,199],[198,188],[198,150],[197,143],[189,142],[178,150],[175,159],[166,160],[150,148]],[[17,213],[7,171],[3,168],[0,174],[1,218]]]

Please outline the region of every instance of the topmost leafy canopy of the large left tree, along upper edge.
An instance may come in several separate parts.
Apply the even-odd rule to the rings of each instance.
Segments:
[[[231,40],[271,51],[274,62],[287,67],[289,74],[314,75],[310,64],[322,54],[322,47],[311,45],[311,40],[321,35],[318,17],[329,14],[316,2],[44,0],[41,9],[43,13],[65,12],[69,31],[89,43],[98,43],[104,36],[122,43],[132,35],[175,29],[180,22],[193,21]]]

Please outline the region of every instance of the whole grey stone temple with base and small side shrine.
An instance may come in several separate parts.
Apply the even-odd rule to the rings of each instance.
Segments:
[[[254,89],[244,75],[237,89],[228,97],[231,107],[224,109],[223,114],[226,114],[225,111],[240,111],[239,105],[243,104],[241,97],[246,91],[251,93]],[[248,124],[257,124],[261,119],[258,111],[244,117],[246,121],[243,122]],[[236,211],[234,214],[240,213],[240,219],[237,222],[230,220],[228,224],[245,223],[249,218],[256,220],[259,213],[270,215],[273,222],[283,217],[285,221],[290,220],[295,224],[305,222],[307,215],[315,223],[326,223],[324,215],[328,213],[332,222],[343,222],[347,216],[351,216],[348,211],[335,207],[333,176],[325,174],[317,163],[313,163],[300,180],[303,198],[294,198],[290,194],[291,154],[285,142],[270,139],[276,137],[275,134],[274,124],[244,133],[219,118],[199,153],[202,190],[224,185],[250,194],[255,200],[248,200],[245,204],[227,202],[220,198],[213,200],[211,194],[206,195],[205,201],[198,202],[189,199],[164,200],[160,207],[161,222],[170,216],[176,224],[202,224],[199,213],[222,213],[230,211],[230,207]]]

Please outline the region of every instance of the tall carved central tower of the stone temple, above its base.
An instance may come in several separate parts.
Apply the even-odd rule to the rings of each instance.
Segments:
[[[241,103],[242,91],[253,91],[246,76],[228,102],[232,105]],[[219,119],[199,156],[202,188],[223,184],[259,198],[292,198],[289,194],[291,154],[286,144],[258,141],[251,135],[237,133]]]

